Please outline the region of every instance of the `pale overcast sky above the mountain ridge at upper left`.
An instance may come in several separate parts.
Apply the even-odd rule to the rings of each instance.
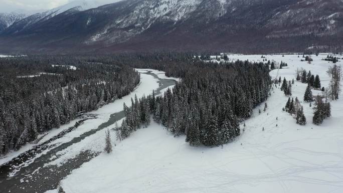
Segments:
[[[0,0],[0,13],[13,11],[27,11],[30,13],[50,10],[73,1],[79,0]],[[85,0],[88,1],[88,0]],[[89,0],[109,4],[118,0]]]

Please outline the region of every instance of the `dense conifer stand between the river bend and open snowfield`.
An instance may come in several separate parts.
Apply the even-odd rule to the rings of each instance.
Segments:
[[[162,96],[132,99],[130,108],[124,104],[126,119],[116,129],[118,139],[147,126],[152,115],[174,136],[185,134],[191,145],[225,144],[240,135],[239,123],[270,94],[269,65],[262,62],[217,64],[194,59],[191,65],[181,61],[159,64],[149,63],[182,81]]]

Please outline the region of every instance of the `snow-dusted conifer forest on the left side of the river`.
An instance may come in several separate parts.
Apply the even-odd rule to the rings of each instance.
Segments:
[[[130,93],[139,74],[112,64],[85,56],[0,58],[0,154]]]

